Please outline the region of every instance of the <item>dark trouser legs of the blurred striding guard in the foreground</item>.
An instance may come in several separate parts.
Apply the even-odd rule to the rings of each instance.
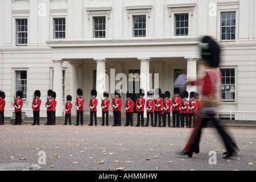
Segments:
[[[233,139],[226,133],[226,131],[222,128],[219,123],[218,118],[199,118],[195,123],[195,129],[189,139],[187,146],[185,147],[185,152],[193,152],[195,150],[199,150],[199,142],[201,137],[201,129],[205,125],[205,122],[212,120],[214,126],[216,127],[218,133],[221,135],[221,138],[224,140],[224,144],[226,146],[226,150],[228,152],[233,152],[234,148],[237,147],[237,144],[234,143]]]

